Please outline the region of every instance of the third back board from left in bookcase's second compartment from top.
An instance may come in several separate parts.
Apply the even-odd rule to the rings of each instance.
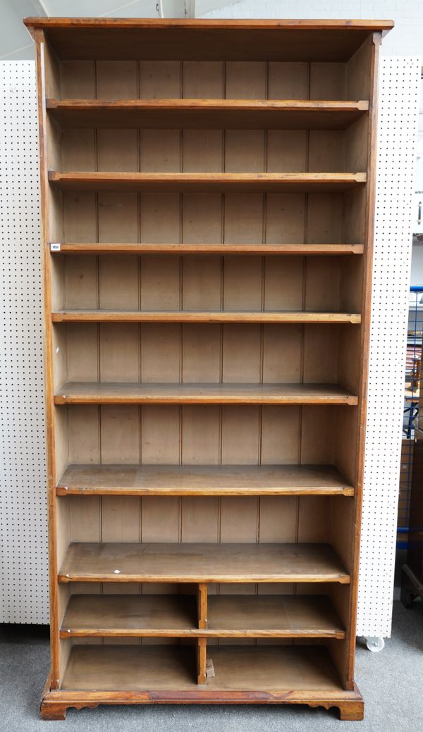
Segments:
[[[139,130],[139,139],[141,171],[180,172],[179,130]]]

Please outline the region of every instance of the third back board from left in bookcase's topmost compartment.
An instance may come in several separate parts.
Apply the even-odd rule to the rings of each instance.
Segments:
[[[180,97],[179,61],[140,61],[139,92],[141,99],[178,99]]]

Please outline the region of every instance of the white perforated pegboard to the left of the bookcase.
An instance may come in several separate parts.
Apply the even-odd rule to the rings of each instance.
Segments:
[[[1,61],[0,622],[48,622],[34,61]]]

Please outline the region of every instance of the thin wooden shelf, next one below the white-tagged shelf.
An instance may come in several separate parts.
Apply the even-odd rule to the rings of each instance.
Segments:
[[[54,323],[361,323],[358,313],[306,310],[59,310]]]

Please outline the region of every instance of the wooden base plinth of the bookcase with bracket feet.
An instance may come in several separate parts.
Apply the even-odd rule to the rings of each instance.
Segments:
[[[50,690],[50,677],[41,700],[43,720],[65,720],[67,709],[95,709],[99,704],[304,704],[310,707],[337,707],[340,720],[360,722],[364,719],[364,701],[356,684],[351,691],[305,692],[264,691],[192,691],[142,690],[116,692],[72,692]]]

